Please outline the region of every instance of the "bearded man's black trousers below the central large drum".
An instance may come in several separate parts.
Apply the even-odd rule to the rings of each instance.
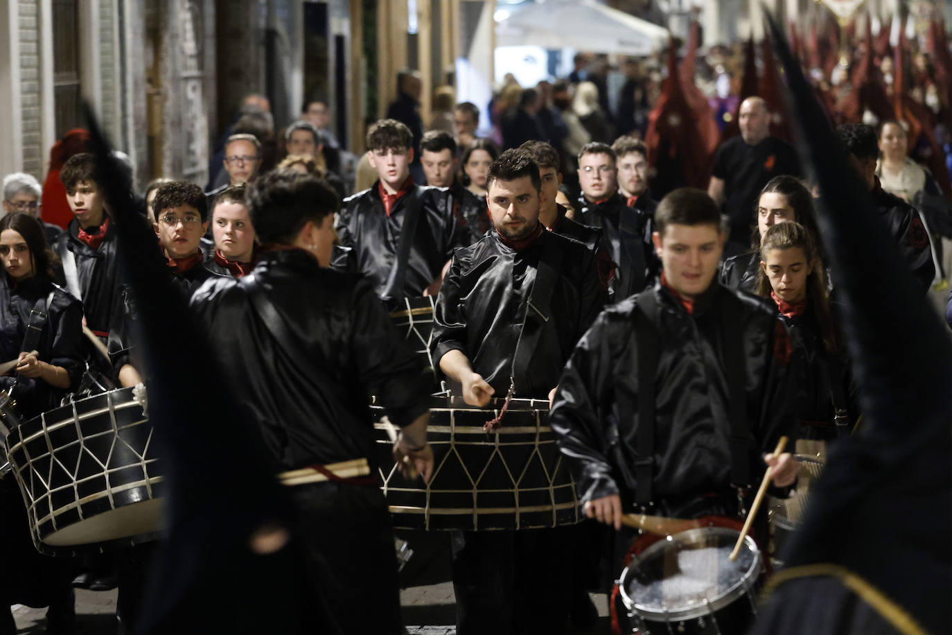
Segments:
[[[574,527],[453,531],[457,635],[561,635]]]

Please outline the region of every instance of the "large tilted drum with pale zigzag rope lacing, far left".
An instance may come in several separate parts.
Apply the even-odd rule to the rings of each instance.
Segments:
[[[129,544],[158,529],[162,476],[133,389],[78,400],[10,430],[12,473],[41,551]]]

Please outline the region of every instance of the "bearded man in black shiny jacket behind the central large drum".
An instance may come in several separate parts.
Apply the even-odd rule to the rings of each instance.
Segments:
[[[539,222],[539,167],[525,150],[506,150],[487,185],[494,230],[453,256],[431,344],[434,363],[479,407],[507,393],[547,398],[606,301],[593,251]],[[566,542],[561,529],[454,531],[457,632],[562,632],[567,567],[552,554]]]

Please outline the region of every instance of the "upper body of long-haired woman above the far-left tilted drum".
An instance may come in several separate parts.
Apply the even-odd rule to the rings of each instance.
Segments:
[[[21,417],[28,418],[58,406],[79,382],[83,306],[53,284],[58,258],[47,248],[43,226],[30,214],[0,219],[0,260],[0,363],[19,362],[0,377],[0,388],[11,393]],[[37,318],[40,312],[45,321]],[[31,319],[40,328],[35,342],[24,339]]]

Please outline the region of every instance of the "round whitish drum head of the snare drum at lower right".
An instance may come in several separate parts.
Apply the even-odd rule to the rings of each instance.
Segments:
[[[622,573],[622,599],[645,619],[691,620],[729,605],[760,577],[761,554],[747,536],[730,561],[740,532],[702,527],[674,534],[632,559]]]

